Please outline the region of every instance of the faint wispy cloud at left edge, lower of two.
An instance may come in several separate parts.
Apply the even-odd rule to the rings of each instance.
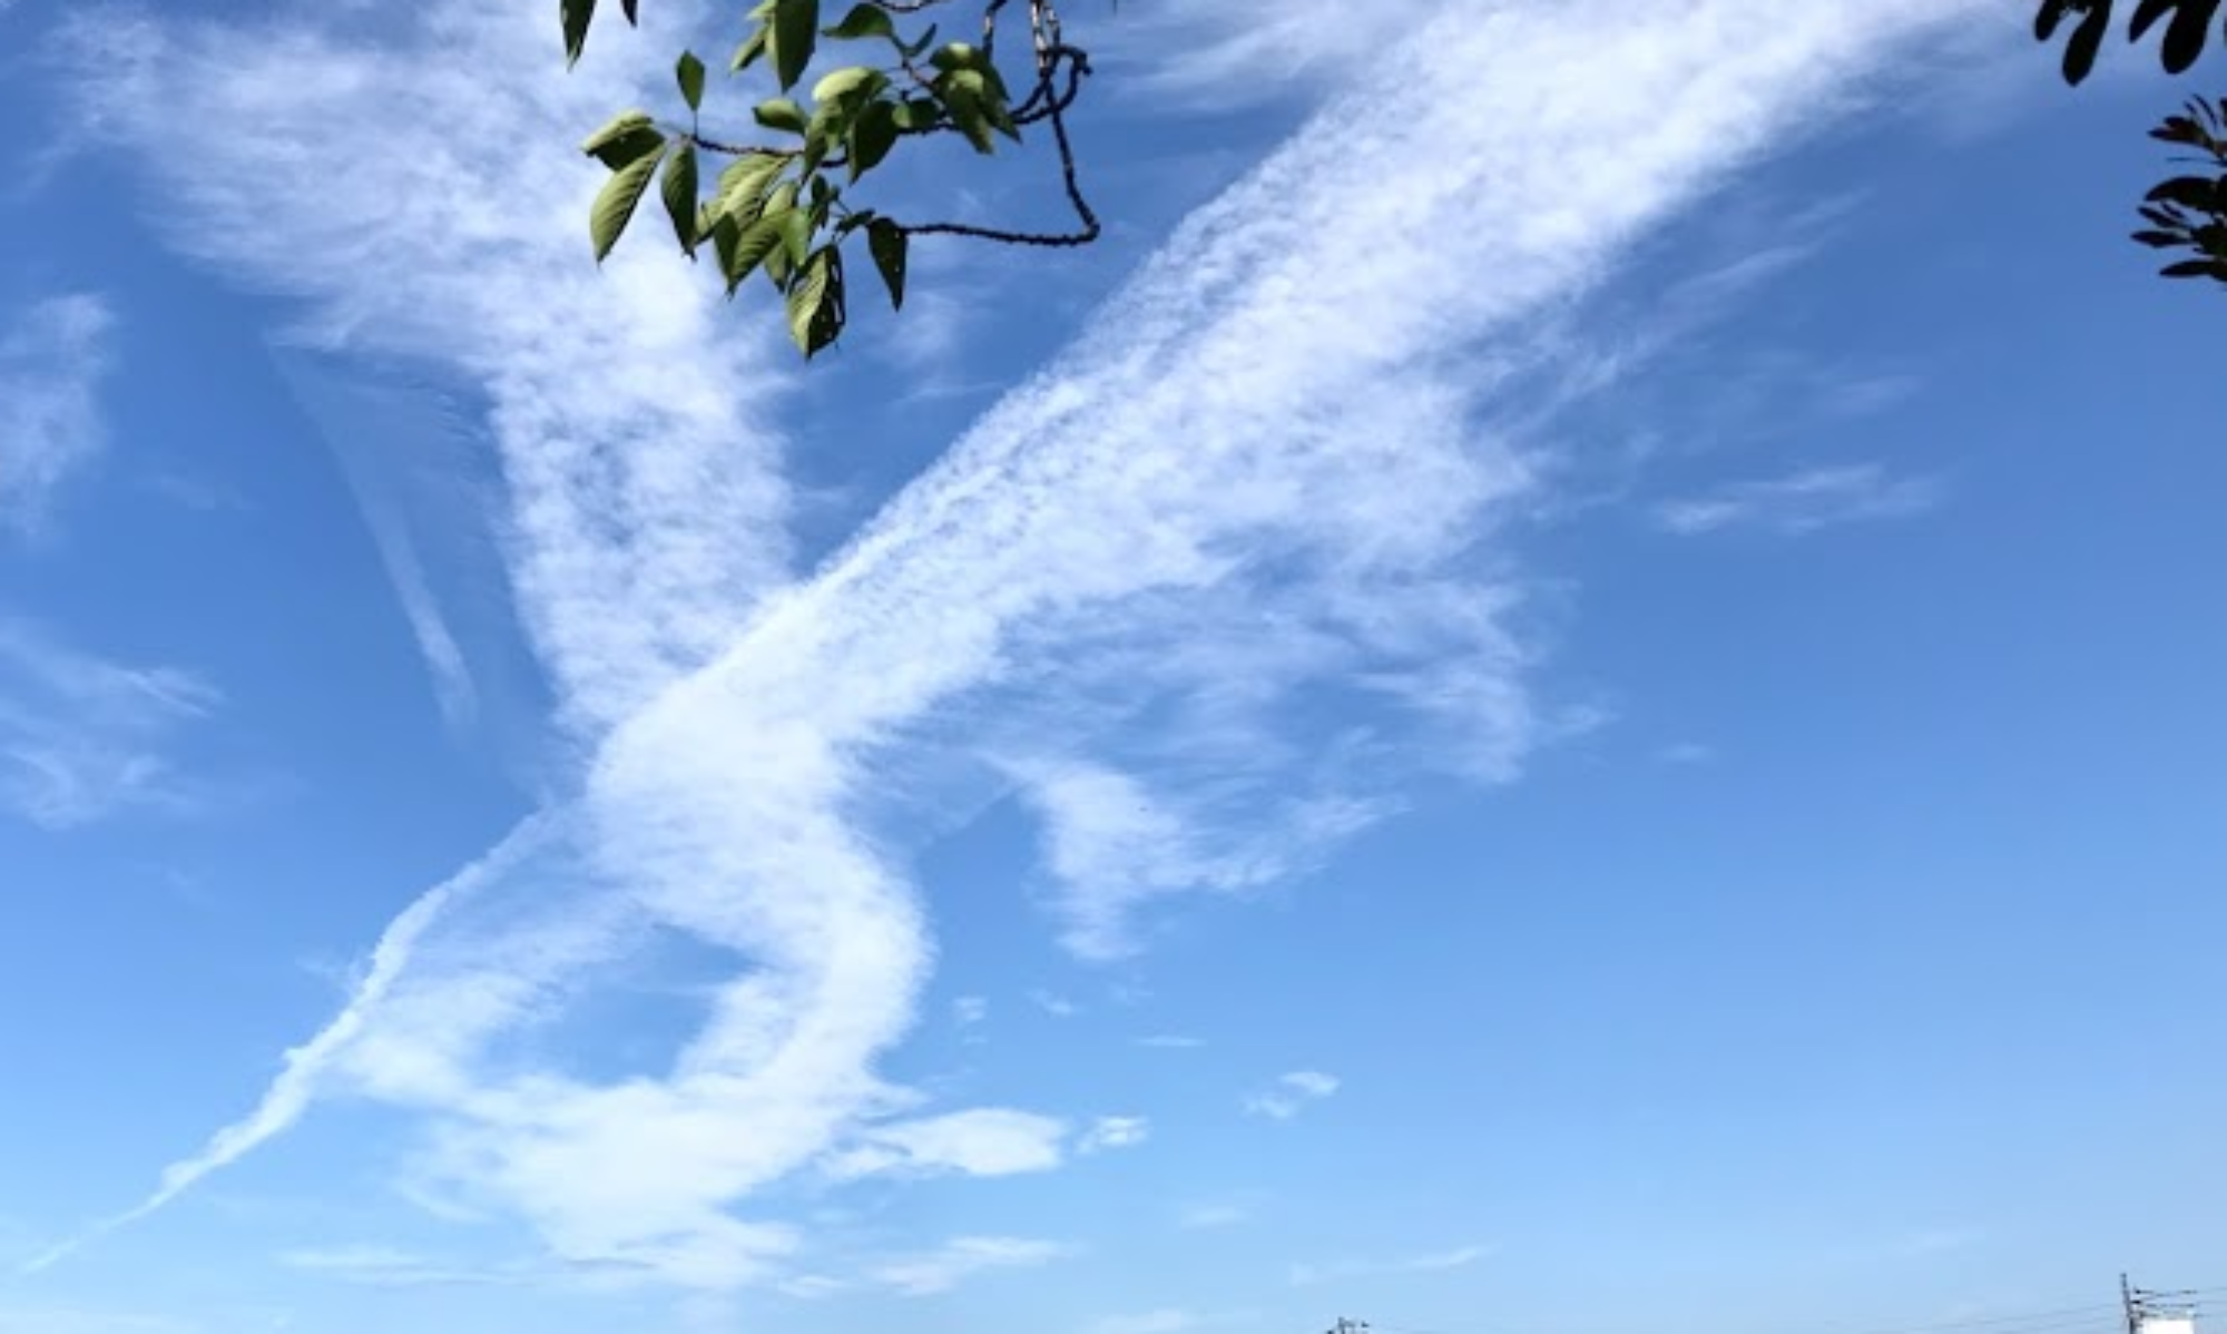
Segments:
[[[0,806],[45,828],[187,808],[171,748],[220,702],[194,673],[107,661],[0,619]]]

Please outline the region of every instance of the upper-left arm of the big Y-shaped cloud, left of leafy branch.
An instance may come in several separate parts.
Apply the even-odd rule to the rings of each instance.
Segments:
[[[566,76],[539,11],[428,9],[376,49],[321,22],[78,18],[78,125],[158,174],[174,245],[307,298],[294,341],[474,381],[514,492],[519,610],[568,719],[601,733],[726,648],[786,575],[768,408],[788,372],[648,232],[586,263],[601,169],[572,145],[670,85],[670,29],[604,40]],[[187,160],[180,120],[256,134]],[[361,131],[396,122],[439,131]]]

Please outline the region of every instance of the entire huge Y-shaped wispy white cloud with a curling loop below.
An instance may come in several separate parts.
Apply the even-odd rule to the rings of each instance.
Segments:
[[[1532,485],[1490,419],[1523,316],[1955,9],[1439,13],[793,583],[777,439],[739,408],[779,376],[708,336],[686,265],[579,263],[595,180],[563,145],[624,87],[548,78],[548,16],[421,11],[383,51],[307,20],[89,29],[111,140],[169,165],[178,118],[258,127],[165,176],[180,245],[305,296],[318,345],[439,359],[490,394],[521,612],[588,742],[577,800],[410,906],[263,1107],[145,1207],[361,1096],[421,1118],[421,1189],[523,1216],[561,1261],[797,1278],[808,1238],[748,1214],[771,1185],[984,1125],[877,1073],[931,964],[884,811],[902,777],[1018,782],[1047,846],[1082,849],[1056,902],[1093,953],[1147,897],[1263,880],[1254,849],[1321,811],[1345,813],[1327,844],[1396,808],[1414,764],[1512,775],[1550,730],[1494,543]],[[396,116],[450,131],[359,134]],[[1309,726],[1325,699],[1356,722]],[[1102,875],[1140,837],[1109,791],[1180,849],[1142,884]],[[579,1073],[568,1000],[666,935],[730,978],[670,1060]],[[1058,1254],[960,1238],[877,1278],[938,1292]]]

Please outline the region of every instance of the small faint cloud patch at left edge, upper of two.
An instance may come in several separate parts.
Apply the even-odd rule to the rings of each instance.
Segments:
[[[0,325],[0,523],[36,532],[53,488],[100,450],[114,323],[78,292]]]

